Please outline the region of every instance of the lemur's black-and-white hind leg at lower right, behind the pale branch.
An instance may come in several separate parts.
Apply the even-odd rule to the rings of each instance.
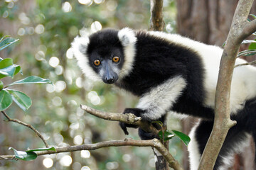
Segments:
[[[206,147],[212,128],[213,121],[206,120],[201,120],[192,128],[189,135],[191,142],[188,145],[191,170],[198,169],[203,149]],[[230,128],[215,162],[214,170],[228,169],[232,163],[233,154],[241,152],[242,148],[248,144],[248,136],[247,132],[242,131],[238,126]]]

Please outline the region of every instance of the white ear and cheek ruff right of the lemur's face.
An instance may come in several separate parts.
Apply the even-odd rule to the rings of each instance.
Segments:
[[[118,32],[118,38],[124,46],[124,65],[119,73],[119,79],[127,76],[133,68],[134,57],[136,55],[135,44],[137,37],[135,36],[134,30],[130,28],[123,28]]]

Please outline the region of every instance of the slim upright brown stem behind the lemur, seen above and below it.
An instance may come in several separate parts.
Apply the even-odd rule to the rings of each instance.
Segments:
[[[150,18],[150,30],[163,30],[164,29],[164,15],[163,15],[163,0],[150,0],[150,11],[151,11],[151,18]],[[166,123],[164,123],[164,129],[166,130]],[[169,141],[163,142],[164,147],[169,149]],[[159,152],[154,150],[153,152],[155,155],[155,164],[156,170],[166,170],[169,169],[169,164],[164,159],[163,155]]]

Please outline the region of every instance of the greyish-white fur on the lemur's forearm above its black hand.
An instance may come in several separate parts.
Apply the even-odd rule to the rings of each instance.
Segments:
[[[144,116],[148,117],[149,120],[157,120],[166,114],[166,111],[169,111],[185,86],[186,81],[181,76],[169,79],[144,94],[139,99],[137,108],[146,110]]]

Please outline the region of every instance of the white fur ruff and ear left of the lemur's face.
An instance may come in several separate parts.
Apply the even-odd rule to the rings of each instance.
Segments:
[[[82,72],[89,79],[94,81],[101,81],[99,75],[90,66],[88,57],[86,55],[87,45],[89,44],[89,38],[87,37],[76,37],[71,43],[73,55],[78,60],[78,66],[82,69]]]

